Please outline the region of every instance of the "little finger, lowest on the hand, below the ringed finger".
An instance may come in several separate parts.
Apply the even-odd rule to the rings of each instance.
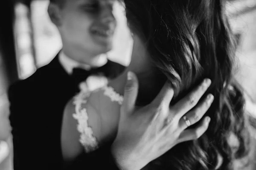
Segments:
[[[207,116],[195,129],[187,129],[180,133],[177,143],[195,140],[201,137],[209,127],[210,118]]]

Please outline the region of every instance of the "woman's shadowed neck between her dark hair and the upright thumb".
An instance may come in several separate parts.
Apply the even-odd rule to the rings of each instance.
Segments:
[[[137,51],[133,52],[131,63],[128,68],[126,68],[126,70],[119,77],[111,81],[109,85],[113,87],[117,93],[123,95],[125,84],[127,82],[128,71],[134,72],[139,80],[137,104],[141,103],[139,105],[144,105],[155,98],[162,87],[162,82],[159,81],[158,71],[152,65],[151,59],[146,50],[142,50],[143,47],[140,45],[134,46],[134,48],[134,50]]]

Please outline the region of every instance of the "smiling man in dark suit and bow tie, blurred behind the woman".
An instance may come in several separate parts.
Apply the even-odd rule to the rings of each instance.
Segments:
[[[96,3],[96,5],[95,5]],[[112,79],[125,67],[106,58],[116,20],[114,0],[51,0],[49,17],[63,48],[46,66],[9,88],[14,169],[60,169],[64,107],[92,74]]]

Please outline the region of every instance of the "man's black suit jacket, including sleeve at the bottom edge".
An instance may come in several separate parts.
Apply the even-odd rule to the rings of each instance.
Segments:
[[[109,61],[116,77],[125,67]],[[15,170],[61,169],[61,123],[65,104],[77,92],[73,79],[64,71],[58,57],[39,68],[31,77],[9,88]],[[108,147],[81,155],[70,169],[116,168]],[[96,163],[97,164],[94,164]],[[104,163],[103,163],[104,164]],[[101,164],[102,165],[102,164]],[[100,169],[100,168],[99,168]]]

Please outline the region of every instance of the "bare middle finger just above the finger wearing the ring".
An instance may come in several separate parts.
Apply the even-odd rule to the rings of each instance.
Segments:
[[[190,111],[198,103],[199,99],[203,96],[207,88],[211,84],[210,79],[204,79],[204,81],[195,90],[190,92],[187,96],[177,102],[171,109],[173,113],[177,113],[176,116],[181,118],[185,113]]]

